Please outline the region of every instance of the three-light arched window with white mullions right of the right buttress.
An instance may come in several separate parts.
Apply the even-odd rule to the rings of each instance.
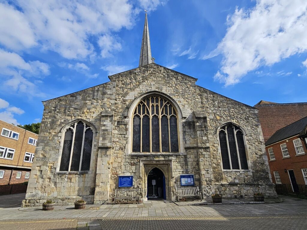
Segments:
[[[248,170],[241,128],[231,123],[223,125],[219,131],[219,140],[223,169]]]

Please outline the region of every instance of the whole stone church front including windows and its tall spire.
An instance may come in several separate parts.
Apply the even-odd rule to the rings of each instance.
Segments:
[[[120,175],[132,175],[146,200],[153,169],[163,173],[166,200],[184,174],[204,196],[276,197],[258,110],[153,63],[147,15],[140,66],[109,79],[43,102],[24,206],[110,202]]]

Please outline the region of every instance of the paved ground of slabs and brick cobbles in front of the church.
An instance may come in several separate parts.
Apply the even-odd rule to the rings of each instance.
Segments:
[[[282,197],[276,204],[178,206],[153,201],[138,205],[0,208],[0,230],[307,229],[307,200]],[[147,207],[148,206],[148,207]]]

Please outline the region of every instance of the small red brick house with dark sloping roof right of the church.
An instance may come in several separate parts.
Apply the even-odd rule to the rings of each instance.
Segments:
[[[279,129],[265,145],[277,193],[307,196],[307,117]]]

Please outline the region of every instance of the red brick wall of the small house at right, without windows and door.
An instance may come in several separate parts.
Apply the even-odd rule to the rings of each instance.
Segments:
[[[275,177],[274,177],[274,171],[278,171],[282,183],[290,184],[291,182],[290,182],[288,170],[292,169],[294,172],[297,184],[305,184],[301,169],[307,168],[307,155],[306,154],[296,155],[296,151],[295,151],[294,144],[293,144],[293,140],[295,139],[297,139],[297,136],[288,139],[288,141],[284,140],[284,141],[272,144],[270,146],[266,146],[266,153],[267,153],[268,159],[270,159],[269,151],[268,151],[269,148],[273,148],[273,152],[275,155],[275,160],[269,161],[273,183],[276,183]],[[303,144],[304,151],[305,153],[307,153],[306,145],[303,140],[301,141]],[[282,150],[280,148],[280,145],[283,143],[287,144],[287,148],[288,148],[289,155],[290,155],[290,157],[288,158],[283,158],[282,156]],[[287,170],[286,172],[285,172],[285,169]]]

